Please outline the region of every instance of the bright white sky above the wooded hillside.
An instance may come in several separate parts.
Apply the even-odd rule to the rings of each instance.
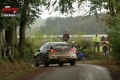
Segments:
[[[90,5],[89,1],[84,1],[80,8],[77,8],[77,3],[74,3],[73,6],[75,7],[76,12],[74,14],[72,14],[72,17],[76,17],[76,16],[86,16],[88,15],[87,12],[89,12],[90,8],[88,7]],[[102,13],[105,13],[107,10],[102,9]],[[98,13],[100,13],[98,11]],[[70,15],[63,15],[59,12],[54,12],[49,14],[49,12],[47,10],[44,10],[43,14],[40,16],[42,19],[47,19],[49,17],[70,17]]]

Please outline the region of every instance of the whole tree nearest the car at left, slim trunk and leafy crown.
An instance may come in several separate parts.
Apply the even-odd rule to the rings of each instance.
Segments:
[[[19,4],[21,9],[19,53],[24,58],[26,46],[25,30],[27,24],[32,24],[39,17],[42,13],[42,5],[46,5],[46,2],[44,0],[24,0],[20,1]]]

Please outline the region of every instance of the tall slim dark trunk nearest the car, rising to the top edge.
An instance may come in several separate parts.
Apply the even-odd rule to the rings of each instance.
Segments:
[[[27,24],[27,9],[29,7],[29,1],[25,0],[24,4],[22,5],[22,14],[21,14],[21,22],[20,22],[20,32],[19,32],[19,52],[21,58],[24,58],[24,52],[25,52],[25,29]]]

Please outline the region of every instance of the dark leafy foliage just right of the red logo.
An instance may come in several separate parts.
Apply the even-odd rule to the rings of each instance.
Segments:
[[[24,4],[23,4],[24,3]],[[44,0],[23,0],[19,2],[21,21],[27,21],[27,24],[33,24],[36,18],[39,18],[43,12]]]

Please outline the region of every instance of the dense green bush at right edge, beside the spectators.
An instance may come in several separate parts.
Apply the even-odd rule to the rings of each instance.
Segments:
[[[108,39],[114,52],[113,56],[120,61],[120,15],[110,19],[111,21],[108,21],[109,29],[106,30],[106,33],[109,36]]]

